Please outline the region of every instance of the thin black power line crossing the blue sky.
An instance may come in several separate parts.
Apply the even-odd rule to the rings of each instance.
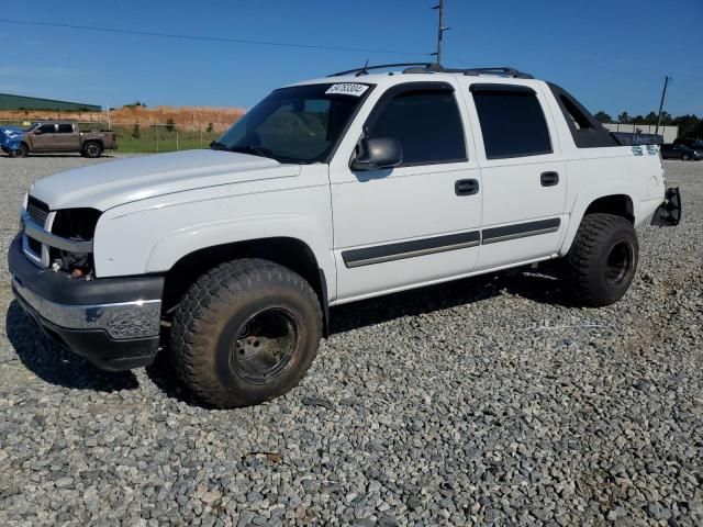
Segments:
[[[292,42],[274,42],[274,41],[252,41],[246,38],[230,38],[226,36],[204,36],[204,35],[188,35],[182,33],[159,33],[156,31],[140,31],[140,30],[126,30],[120,27],[100,27],[93,25],[76,25],[76,24],[60,24],[57,22],[42,22],[35,20],[13,20],[13,19],[0,19],[0,23],[4,24],[20,24],[20,25],[40,25],[48,27],[62,27],[66,30],[79,30],[79,31],[96,31],[102,33],[119,33],[123,35],[142,35],[142,36],[156,36],[161,38],[180,38],[187,41],[205,41],[205,42],[219,42],[227,44],[249,44],[259,46],[276,46],[276,47],[295,47],[302,49],[324,49],[330,52],[358,52],[358,53],[382,53],[388,55],[432,55],[429,53],[419,52],[401,52],[398,49],[373,49],[365,47],[344,47],[344,46],[325,46],[316,44],[298,44]]]

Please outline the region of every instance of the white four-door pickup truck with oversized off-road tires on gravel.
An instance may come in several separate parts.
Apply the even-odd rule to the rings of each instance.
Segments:
[[[679,221],[658,147],[553,83],[371,69],[275,90],[211,149],[40,179],[9,254],[19,303],[101,368],[163,346],[197,396],[242,406],[300,381],[330,306],[556,258],[606,305],[635,226]]]

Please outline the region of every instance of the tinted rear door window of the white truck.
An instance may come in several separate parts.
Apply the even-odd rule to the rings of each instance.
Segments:
[[[472,85],[488,159],[550,154],[549,130],[529,88]]]

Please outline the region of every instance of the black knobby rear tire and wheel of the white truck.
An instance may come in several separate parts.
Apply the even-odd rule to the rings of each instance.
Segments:
[[[565,258],[577,302],[589,307],[617,302],[635,278],[638,256],[637,234],[628,220],[600,213],[583,216]]]

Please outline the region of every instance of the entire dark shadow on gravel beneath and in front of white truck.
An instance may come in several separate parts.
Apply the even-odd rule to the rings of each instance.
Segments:
[[[403,316],[417,316],[471,304],[501,294],[517,295],[539,303],[570,305],[560,281],[549,271],[545,273],[518,268],[333,307],[330,333],[342,334]],[[22,363],[46,382],[98,392],[138,388],[133,372],[105,372],[54,344],[14,301],[5,316],[5,332]],[[168,367],[168,330],[165,329],[161,335],[165,347],[155,363],[146,368],[149,380],[168,397],[208,408],[207,404],[192,397],[174,379]]]

